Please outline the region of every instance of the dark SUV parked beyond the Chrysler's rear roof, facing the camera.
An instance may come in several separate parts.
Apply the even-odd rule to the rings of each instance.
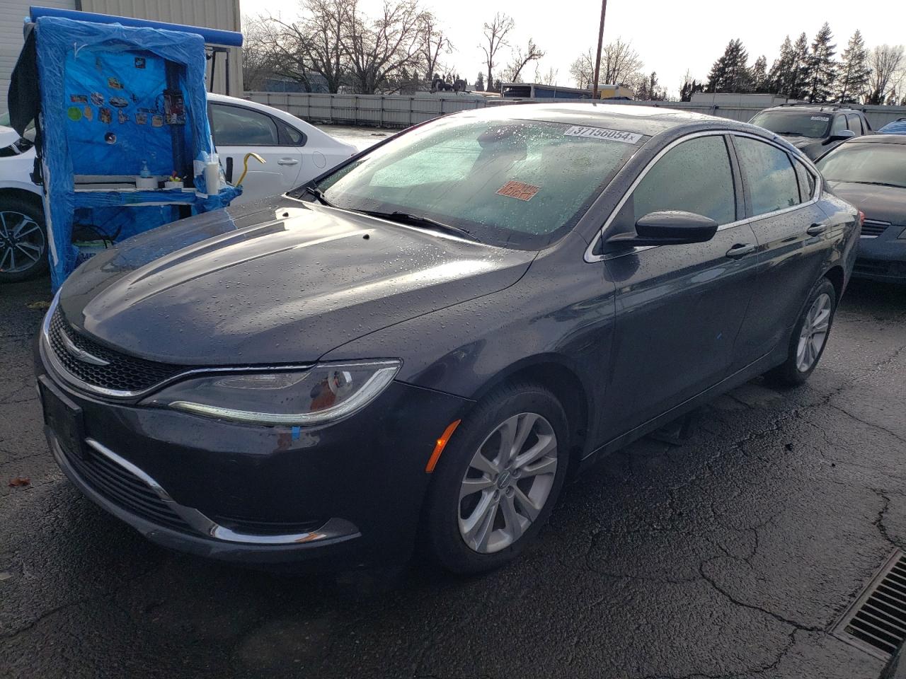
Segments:
[[[861,110],[842,105],[784,104],[758,111],[749,122],[779,134],[813,160],[846,139],[872,134]]]

